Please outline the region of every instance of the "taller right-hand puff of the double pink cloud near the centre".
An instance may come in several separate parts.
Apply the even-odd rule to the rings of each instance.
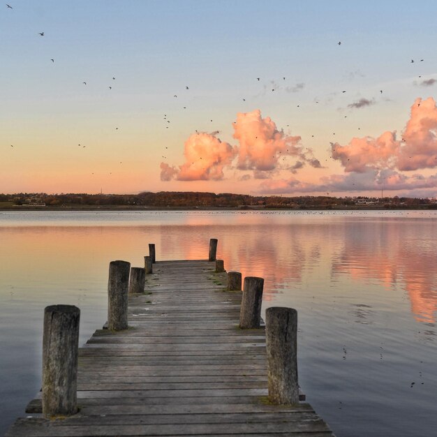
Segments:
[[[282,156],[302,154],[300,136],[278,131],[270,117],[261,117],[260,110],[239,112],[233,126],[233,137],[239,141],[237,168],[240,170],[274,170]]]

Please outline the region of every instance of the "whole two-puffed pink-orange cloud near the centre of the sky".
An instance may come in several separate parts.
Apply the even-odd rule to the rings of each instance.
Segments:
[[[308,163],[313,168],[321,168],[312,149],[303,150],[300,136],[290,136],[279,131],[269,117],[263,119],[260,110],[237,114],[233,124],[233,137],[239,146],[221,142],[212,133],[191,135],[184,145],[185,163],[179,167],[161,163],[161,180],[179,181],[220,180],[223,170],[232,165],[237,157],[238,170],[253,170],[255,179],[272,177],[276,170],[289,169],[296,172]],[[290,164],[293,158],[298,158]]]

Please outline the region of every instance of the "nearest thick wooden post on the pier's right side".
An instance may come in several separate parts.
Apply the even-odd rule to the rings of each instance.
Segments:
[[[299,403],[297,383],[297,311],[273,306],[266,311],[265,339],[269,401]]]

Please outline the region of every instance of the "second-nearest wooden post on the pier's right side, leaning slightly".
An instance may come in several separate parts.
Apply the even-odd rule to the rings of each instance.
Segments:
[[[239,311],[239,327],[256,329],[260,327],[262,288],[264,279],[255,276],[244,278],[242,304]]]

